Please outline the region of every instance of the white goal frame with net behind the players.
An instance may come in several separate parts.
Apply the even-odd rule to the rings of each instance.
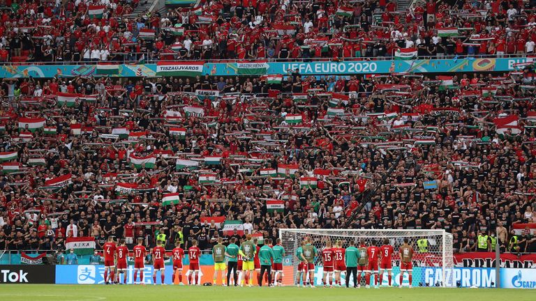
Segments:
[[[343,248],[349,246],[351,240],[355,242],[356,247],[359,247],[362,240],[365,241],[367,247],[371,246],[374,240],[376,246],[380,247],[384,244],[385,238],[389,239],[389,245],[394,248],[392,256],[392,279],[393,286],[399,286],[400,275],[400,256],[399,248],[403,244],[404,238],[408,238],[409,245],[413,247],[412,258],[412,286],[440,286],[440,287],[455,287],[453,283],[453,268],[454,261],[452,258],[452,234],[445,230],[366,230],[366,229],[279,229],[279,238],[285,248],[285,258],[283,261],[283,284],[286,286],[295,285],[297,276],[298,258],[295,256],[296,250],[300,247],[300,243],[306,238],[311,238],[313,245],[318,249],[318,256],[315,257],[315,286],[322,285],[322,258],[321,250],[325,247],[329,240],[335,245],[335,242],[340,240]],[[419,249],[417,240],[426,240],[427,247],[424,244]],[[382,286],[388,285],[387,272],[383,277]],[[333,274],[333,273],[332,273]],[[402,286],[409,286],[408,273],[403,274]],[[333,276],[330,276],[333,277]],[[345,272],[342,273],[343,283]],[[362,277],[364,279],[364,277]],[[374,277],[371,277],[373,284]],[[350,284],[353,285],[352,279]],[[363,284],[363,283],[362,283]]]

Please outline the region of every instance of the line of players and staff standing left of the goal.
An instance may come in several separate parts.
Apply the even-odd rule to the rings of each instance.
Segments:
[[[214,258],[214,285],[216,285],[216,279],[219,272],[221,271],[222,283],[223,285],[230,284],[233,280],[234,286],[248,286],[253,285],[253,271],[256,272],[258,284],[262,285],[261,275],[261,265],[260,261],[263,254],[266,252],[261,252],[261,247],[257,245],[257,239],[252,239],[251,235],[247,236],[244,242],[240,243],[240,247],[234,244],[236,242],[235,238],[231,238],[230,245],[225,247],[222,244],[222,239],[218,240],[218,244],[214,246],[213,258]],[[285,256],[285,249],[281,245],[281,239],[276,241],[276,245],[272,246],[270,240],[266,240],[267,251],[270,254],[269,264],[270,268],[268,270],[263,270],[262,272],[267,272],[265,279],[268,281],[268,284],[271,285],[280,285],[282,286],[283,281],[283,257]],[[114,238],[108,238],[107,242],[103,246],[103,255],[104,255],[104,282],[105,284],[121,284],[121,274],[123,275],[122,284],[126,284],[127,280],[127,258],[128,258],[128,247],[126,247],[125,240],[121,240],[119,245],[116,245]],[[190,285],[200,285],[199,283],[199,274],[200,274],[200,255],[201,250],[198,247],[198,242],[196,240],[192,241],[192,247],[188,249],[188,258],[190,265],[188,271],[186,272],[186,277],[188,279],[188,284]],[[259,256],[260,255],[260,256]],[[137,284],[137,275],[140,275],[139,284],[144,284],[143,281],[143,271],[145,268],[145,261],[147,256],[147,249],[143,245],[143,240],[138,239],[137,245],[133,247],[133,256],[134,256],[134,279],[133,282]],[[184,249],[180,247],[180,243],[176,243],[176,247],[171,252],[171,259],[173,264],[173,275],[172,283],[175,282],[175,278],[178,277],[179,284],[182,284],[182,261],[185,256]],[[163,242],[157,241],[156,247],[151,250],[151,257],[153,261],[153,283],[156,285],[156,275],[160,272],[161,284],[165,285],[165,260],[169,257],[166,254],[166,251],[163,247]],[[228,266],[225,265],[225,262],[228,261]],[[267,259],[265,259],[267,261]],[[272,269],[273,268],[273,269]],[[228,270],[226,279],[224,271]],[[231,277],[232,276],[232,277]],[[273,283],[271,279],[274,279]],[[225,281],[226,280],[226,281]]]

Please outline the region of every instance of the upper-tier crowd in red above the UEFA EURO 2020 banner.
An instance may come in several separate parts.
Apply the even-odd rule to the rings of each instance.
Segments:
[[[500,57],[536,42],[534,1],[220,0],[133,15],[137,2],[3,0],[0,61]]]

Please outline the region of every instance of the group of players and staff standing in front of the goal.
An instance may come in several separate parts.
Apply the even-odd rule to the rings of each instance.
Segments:
[[[411,288],[413,248],[409,245],[408,238],[404,238],[403,241],[403,245],[399,248],[399,283],[400,287],[402,287],[404,272],[408,272],[409,287]],[[325,247],[320,252],[323,265],[322,283],[324,286],[328,286],[328,284],[333,286],[333,280],[336,286],[342,286],[341,274],[345,273],[345,286],[349,286],[350,275],[352,275],[354,287],[359,288],[364,273],[366,288],[370,288],[371,275],[374,275],[375,288],[378,288],[382,284],[385,271],[387,271],[389,286],[392,286],[391,272],[394,248],[389,245],[389,239],[387,238],[383,243],[384,245],[377,247],[375,240],[373,240],[371,246],[367,247],[365,240],[361,240],[359,247],[356,248],[355,242],[350,241],[350,246],[343,248],[341,240],[337,240],[335,246],[332,246],[330,240],[325,242]],[[314,279],[314,260],[316,255],[317,250],[311,245],[311,238],[306,238],[304,242],[301,242],[301,247],[298,247],[296,252],[299,264],[295,285],[300,286],[300,281],[302,281],[303,286],[309,284],[314,287],[311,279]]]

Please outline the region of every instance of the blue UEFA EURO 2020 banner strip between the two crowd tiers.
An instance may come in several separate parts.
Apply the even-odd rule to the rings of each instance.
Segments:
[[[514,63],[532,60],[513,59],[426,59],[412,61],[312,61],[268,62],[268,75],[287,74],[299,70],[301,75],[366,75],[393,72],[438,73],[438,72],[508,72]],[[203,74],[211,76],[235,76],[237,63],[204,63]],[[0,77],[77,77],[96,75],[96,65],[2,65]],[[121,64],[117,74],[110,77],[158,76],[156,64]]]

